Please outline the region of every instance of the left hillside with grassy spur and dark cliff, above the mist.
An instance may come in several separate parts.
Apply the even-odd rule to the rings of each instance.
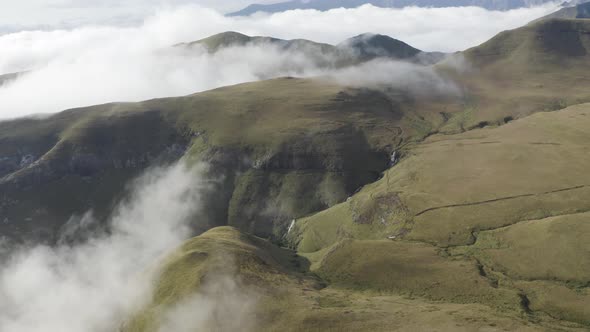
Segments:
[[[53,125],[60,117],[66,118],[59,119],[65,125],[55,130],[68,125],[67,133],[53,127],[43,132],[47,122]],[[93,211],[104,220],[131,179],[149,167],[179,160],[190,143],[158,112],[77,124],[79,117],[17,120],[14,130],[3,132],[10,136],[0,137],[0,234],[51,242],[72,215]]]

